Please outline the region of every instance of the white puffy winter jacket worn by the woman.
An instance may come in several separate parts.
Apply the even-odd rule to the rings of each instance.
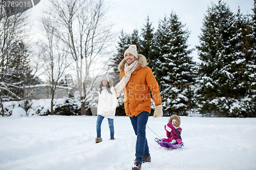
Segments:
[[[99,92],[99,102],[97,108],[97,114],[108,117],[115,118],[117,107],[117,99],[113,94],[110,94],[106,87],[102,87],[101,93]]]

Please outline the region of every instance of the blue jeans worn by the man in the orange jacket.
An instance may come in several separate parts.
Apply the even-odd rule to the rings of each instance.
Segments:
[[[144,155],[150,157],[150,150],[148,149],[146,140],[146,123],[148,116],[149,113],[143,111],[138,116],[130,117],[134,132],[137,135],[135,161],[140,163],[142,163]]]

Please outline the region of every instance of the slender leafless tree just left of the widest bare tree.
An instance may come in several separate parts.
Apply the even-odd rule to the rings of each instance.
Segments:
[[[71,62],[68,61],[68,52],[63,49],[63,43],[59,41],[59,37],[55,34],[54,20],[44,17],[42,18],[42,25],[44,25],[47,37],[47,44],[43,45],[45,52],[44,69],[51,84],[51,115],[53,115],[55,89]]]

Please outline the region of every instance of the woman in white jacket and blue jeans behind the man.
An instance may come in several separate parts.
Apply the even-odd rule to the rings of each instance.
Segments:
[[[108,77],[104,77],[99,84],[99,101],[97,108],[97,123],[96,131],[97,137],[95,142],[101,142],[101,123],[104,117],[108,118],[110,128],[110,140],[114,140],[114,117],[116,114],[117,99],[110,91],[113,86],[113,81]]]

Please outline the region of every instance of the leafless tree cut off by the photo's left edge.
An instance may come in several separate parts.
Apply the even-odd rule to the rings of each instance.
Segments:
[[[2,2],[1,2],[2,3]],[[28,28],[28,14],[27,12],[18,13],[15,15],[7,16],[6,11],[1,4],[0,6],[0,96],[1,96],[1,108],[2,115],[4,116],[3,110],[3,99],[13,96],[14,98],[20,99],[14,92],[10,90],[12,87],[17,87],[15,82],[9,79],[12,74],[8,68],[8,62],[13,58],[10,58],[8,53],[15,44],[14,42],[24,40],[26,37],[25,29]]]

